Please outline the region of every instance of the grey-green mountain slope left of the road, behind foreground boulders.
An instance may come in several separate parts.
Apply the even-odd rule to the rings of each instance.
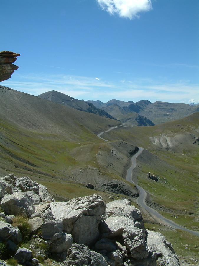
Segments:
[[[113,154],[112,143],[96,136],[118,121],[3,86],[0,98],[1,175],[30,176],[57,198],[92,194],[83,186],[88,183],[97,193],[137,195],[123,179],[134,147],[113,142]]]

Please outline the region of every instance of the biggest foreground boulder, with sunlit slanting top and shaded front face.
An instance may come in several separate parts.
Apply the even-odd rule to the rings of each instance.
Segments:
[[[63,221],[63,230],[71,234],[74,241],[91,245],[97,240],[100,217],[105,211],[105,204],[99,195],[50,203],[50,208],[53,218]]]

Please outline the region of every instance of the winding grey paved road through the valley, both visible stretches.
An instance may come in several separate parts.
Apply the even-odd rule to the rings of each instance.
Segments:
[[[101,135],[104,134],[105,132],[111,131],[114,128],[124,126],[124,124],[125,123],[122,123],[119,126],[113,126],[113,127],[109,128],[108,130],[99,133],[97,136],[99,138],[101,138],[102,140],[104,140],[104,141],[108,141],[108,140],[102,138]],[[179,226],[177,223],[174,223],[171,220],[165,218],[164,216],[159,214],[156,210],[154,210],[153,208],[151,208],[151,207],[146,205],[146,201],[145,200],[146,200],[146,197],[147,197],[147,192],[141,186],[138,186],[137,184],[135,184],[132,181],[133,169],[137,166],[136,158],[142,153],[143,150],[144,150],[144,148],[139,147],[139,151],[131,157],[132,165],[129,167],[129,169],[127,170],[127,174],[126,174],[126,180],[129,181],[130,183],[134,184],[137,187],[137,189],[139,190],[139,197],[137,198],[137,204],[140,207],[142,207],[145,210],[147,210],[147,212],[150,215],[155,216],[159,220],[162,220],[168,226],[170,226],[172,228],[175,228],[175,229],[180,229],[180,230],[186,231],[186,232],[191,233],[191,234],[193,234],[195,236],[199,236],[199,232],[198,231],[189,230],[189,229],[187,229],[185,227]]]

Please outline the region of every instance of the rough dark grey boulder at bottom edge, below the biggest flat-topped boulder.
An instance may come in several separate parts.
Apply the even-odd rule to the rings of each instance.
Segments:
[[[67,258],[61,266],[108,266],[103,256],[91,251],[87,246],[73,243],[67,252]]]

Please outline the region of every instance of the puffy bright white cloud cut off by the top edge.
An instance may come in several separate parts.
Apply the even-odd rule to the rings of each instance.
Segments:
[[[118,14],[130,20],[139,17],[138,13],[152,9],[151,0],[97,0],[100,7],[109,14]]]

